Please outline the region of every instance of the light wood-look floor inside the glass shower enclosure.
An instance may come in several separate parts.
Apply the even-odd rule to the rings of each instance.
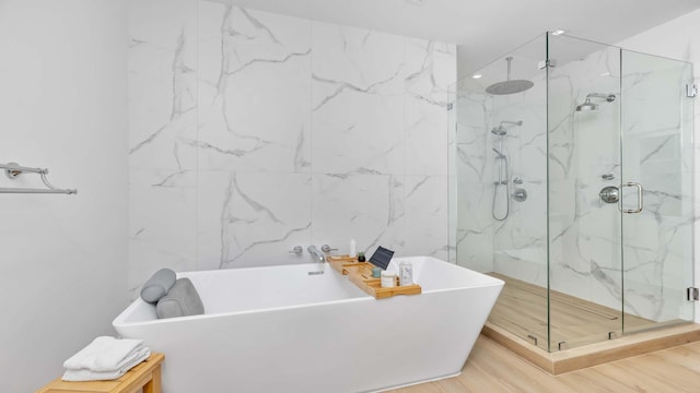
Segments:
[[[489,322],[547,350],[547,289],[498,273],[488,273],[505,282]],[[654,321],[622,313],[567,294],[551,291],[551,350],[563,350],[605,342],[626,332],[643,331],[677,324],[678,321]]]

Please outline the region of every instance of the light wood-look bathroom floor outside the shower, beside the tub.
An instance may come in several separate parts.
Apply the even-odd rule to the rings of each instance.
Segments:
[[[393,393],[700,392],[700,342],[551,376],[479,336],[462,374]]]

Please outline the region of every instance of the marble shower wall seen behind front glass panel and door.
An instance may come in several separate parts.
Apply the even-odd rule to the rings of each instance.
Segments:
[[[682,127],[689,73],[680,62],[627,50],[621,56],[603,48],[552,71],[550,88],[574,102],[552,103],[549,111],[561,124],[550,130],[550,284],[654,321],[691,319],[684,277],[693,221],[691,128]],[[594,100],[596,111],[572,111],[591,92],[617,98]],[[643,184],[642,213],[621,215],[600,202],[599,190],[620,179]],[[637,206],[633,189],[623,188],[623,195],[625,209]]]

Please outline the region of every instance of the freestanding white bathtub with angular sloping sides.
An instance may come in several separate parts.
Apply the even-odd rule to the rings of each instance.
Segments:
[[[413,264],[423,293],[376,300],[323,264],[178,274],[206,314],[158,320],[141,299],[113,322],[165,354],[163,391],[366,392],[456,376],[503,282],[434,258]]]

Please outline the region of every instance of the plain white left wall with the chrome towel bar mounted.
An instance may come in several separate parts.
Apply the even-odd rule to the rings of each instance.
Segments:
[[[125,21],[121,1],[0,1],[0,163],[79,192],[0,194],[1,392],[58,377],[127,301]]]

